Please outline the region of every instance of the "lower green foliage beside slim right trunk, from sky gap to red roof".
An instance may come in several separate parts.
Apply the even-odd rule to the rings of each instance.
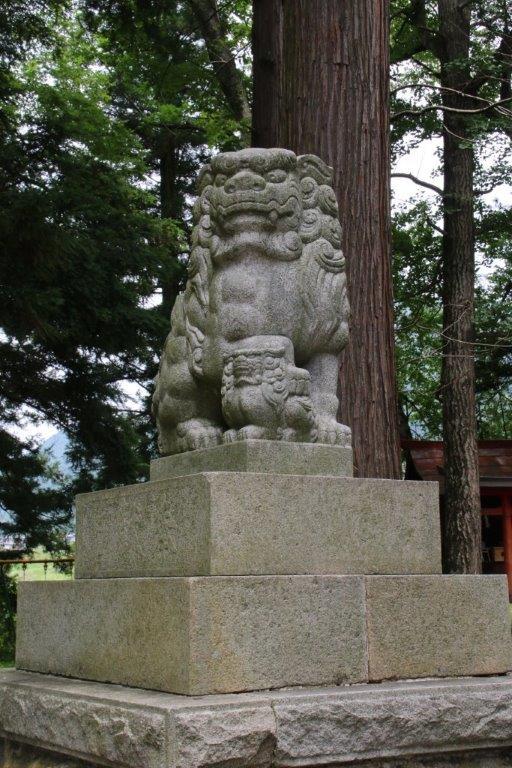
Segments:
[[[414,437],[441,439],[441,232],[437,206],[395,215],[393,271],[399,398]],[[512,249],[508,209],[480,206],[475,304],[479,437],[512,438]]]

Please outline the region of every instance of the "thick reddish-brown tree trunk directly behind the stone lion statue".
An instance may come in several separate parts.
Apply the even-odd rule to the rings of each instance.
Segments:
[[[262,34],[254,56],[279,61]],[[357,474],[400,477],[389,246],[388,4],[385,0],[263,0],[282,5],[281,84],[254,83],[255,138],[334,168],[352,309],[340,372],[341,420],[353,431]],[[260,15],[258,16],[258,13]],[[267,35],[279,29],[267,25]],[[268,54],[270,51],[270,54]],[[280,94],[278,119],[275,93]],[[273,126],[273,127],[272,127]],[[269,135],[269,131],[275,135]]]

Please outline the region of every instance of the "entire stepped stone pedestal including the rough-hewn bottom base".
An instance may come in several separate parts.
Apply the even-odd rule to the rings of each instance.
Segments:
[[[502,768],[509,678],[376,683],[506,673],[506,579],[443,576],[436,485],[349,458],[250,441],[79,497],[76,579],[20,585],[5,765]]]

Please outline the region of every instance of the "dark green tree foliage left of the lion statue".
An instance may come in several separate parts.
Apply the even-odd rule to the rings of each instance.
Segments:
[[[72,495],[16,429],[64,430],[79,489],[145,476],[151,436],[122,386],[154,375],[167,324],[145,302],[169,271],[170,233],[94,40],[51,7],[18,3],[17,37],[0,34],[0,529],[55,551]]]

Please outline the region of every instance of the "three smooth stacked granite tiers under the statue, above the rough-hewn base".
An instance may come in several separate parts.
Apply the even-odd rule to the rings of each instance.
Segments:
[[[78,497],[77,578],[20,585],[18,668],[192,696],[506,672],[505,578],[441,575],[437,486],[349,458],[235,443]]]

